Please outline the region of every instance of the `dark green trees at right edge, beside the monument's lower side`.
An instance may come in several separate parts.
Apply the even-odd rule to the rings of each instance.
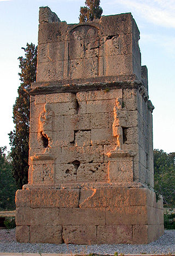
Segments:
[[[175,152],[154,149],[154,188],[162,194],[164,204],[175,207]]]

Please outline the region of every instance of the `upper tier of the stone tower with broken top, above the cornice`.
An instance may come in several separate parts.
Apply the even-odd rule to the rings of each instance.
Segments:
[[[138,40],[131,13],[67,24],[49,7],[41,7],[37,82],[142,81]]]

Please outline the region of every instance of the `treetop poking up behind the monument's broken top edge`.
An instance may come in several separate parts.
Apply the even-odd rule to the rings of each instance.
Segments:
[[[103,13],[103,9],[100,7],[100,0],[86,0],[85,5],[85,7],[80,7],[80,22],[100,19]]]

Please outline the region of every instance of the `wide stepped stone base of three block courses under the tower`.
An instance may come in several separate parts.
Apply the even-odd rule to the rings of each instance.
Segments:
[[[18,190],[17,241],[141,244],[164,233],[162,199],[149,188],[73,187]]]

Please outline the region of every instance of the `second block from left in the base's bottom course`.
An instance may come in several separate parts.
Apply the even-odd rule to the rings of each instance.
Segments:
[[[30,226],[30,243],[62,243],[62,226]]]

